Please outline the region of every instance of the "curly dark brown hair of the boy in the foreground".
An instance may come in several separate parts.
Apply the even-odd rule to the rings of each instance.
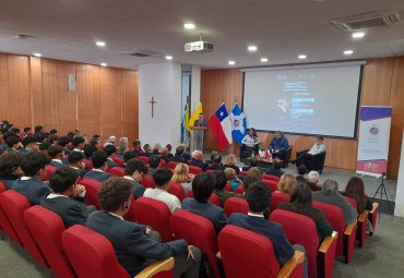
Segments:
[[[98,192],[99,206],[105,211],[116,211],[132,195],[133,186],[129,180],[118,177],[111,177],[103,182]]]

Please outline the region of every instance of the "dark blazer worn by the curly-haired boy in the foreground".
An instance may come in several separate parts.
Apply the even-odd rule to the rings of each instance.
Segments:
[[[188,253],[185,240],[159,243],[144,234],[144,226],[121,220],[105,211],[92,213],[85,225],[110,241],[119,264],[131,277],[157,259]]]

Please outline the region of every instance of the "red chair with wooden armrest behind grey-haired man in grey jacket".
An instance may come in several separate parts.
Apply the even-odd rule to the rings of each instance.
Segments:
[[[340,207],[320,202],[313,202],[313,206],[322,210],[333,230],[338,233],[336,255],[344,256],[348,264],[355,250],[356,221],[345,227],[344,214]]]

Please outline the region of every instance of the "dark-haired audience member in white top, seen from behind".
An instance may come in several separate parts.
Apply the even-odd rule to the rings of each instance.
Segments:
[[[155,198],[167,204],[171,214],[176,209],[181,208],[181,203],[178,197],[167,192],[169,182],[171,181],[173,172],[167,168],[161,168],[153,174],[154,183],[156,189],[146,189],[143,196]]]

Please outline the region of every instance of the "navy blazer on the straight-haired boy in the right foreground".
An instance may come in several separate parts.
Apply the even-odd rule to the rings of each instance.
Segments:
[[[286,238],[281,225],[269,221],[263,217],[233,214],[228,218],[228,223],[235,225],[266,237],[273,244],[275,256],[280,265],[289,261],[295,251]]]

